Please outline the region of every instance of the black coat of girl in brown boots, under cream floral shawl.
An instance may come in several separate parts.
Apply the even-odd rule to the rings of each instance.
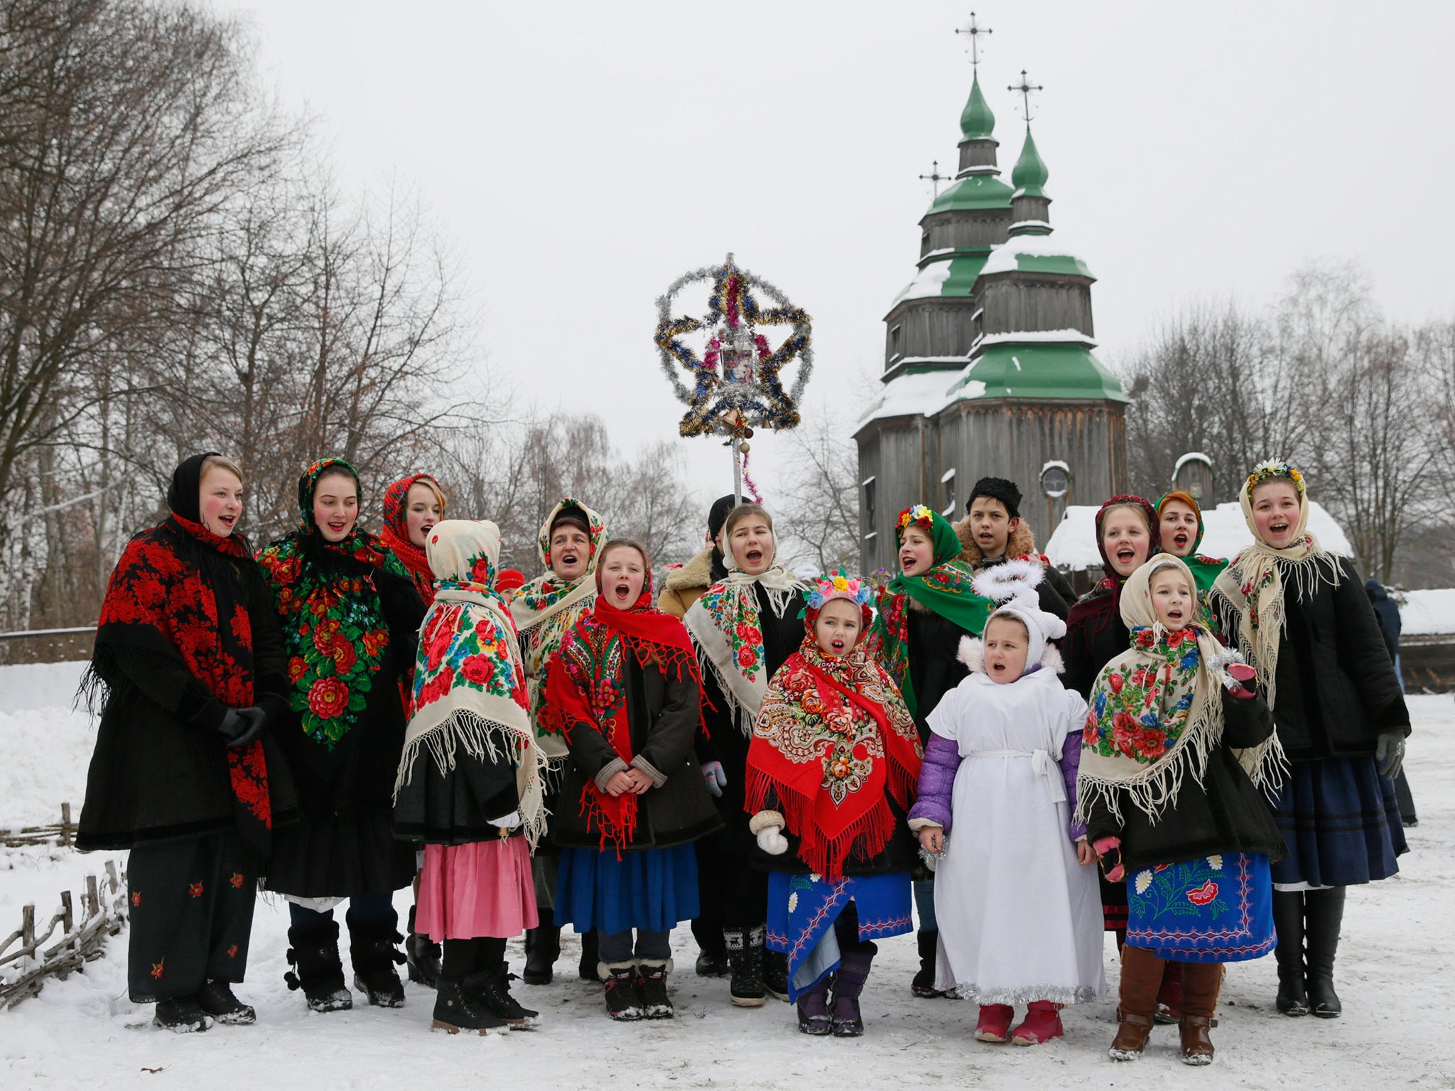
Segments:
[[[1219,852],[1263,852],[1270,860],[1288,857],[1267,802],[1253,787],[1229,748],[1257,746],[1273,733],[1261,697],[1235,698],[1222,691],[1222,742],[1208,755],[1202,784],[1190,772],[1181,791],[1157,822],[1129,800],[1122,802],[1123,825],[1104,803],[1093,807],[1087,838],[1122,838],[1128,874],[1157,864],[1177,864]]]

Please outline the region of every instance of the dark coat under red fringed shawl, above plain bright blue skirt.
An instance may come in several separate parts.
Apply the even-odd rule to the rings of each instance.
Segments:
[[[685,671],[668,676],[659,666],[643,668],[630,649],[623,660],[631,754],[666,777],[637,799],[636,832],[623,851],[685,845],[722,826],[693,754],[701,691]],[[581,799],[588,783],[620,756],[591,723],[570,724],[567,745],[570,761],[551,838],[562,847],[599,850],[601,831],[588,826]]]

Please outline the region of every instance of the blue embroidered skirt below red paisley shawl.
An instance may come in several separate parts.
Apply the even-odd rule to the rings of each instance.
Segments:
[[[888,876],[822,876],[773,871],[768,876],[768,947],[789,956],[789,1001],[838,969],[834,922],[850,902],[858,938],[914,931],[908,871]]]

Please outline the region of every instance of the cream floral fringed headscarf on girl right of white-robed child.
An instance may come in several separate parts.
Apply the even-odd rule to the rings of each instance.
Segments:
[[[1093,800],[1120,820],[1123,796],[1152,820],[1176,802],[1190,771],[1202,783],[1208,755],[1222,740],[1221,675],[1235,659],[1200,623],[1168,631],[1152,608],[1151,580],[1176,569],[1196,588],[1180,557],[1163,553],[1133,572],[1120,594],[1122,621],[1132,646],[1107,663],[1091,687],[1077,819]],[[1276,738],[1240,752],[1254,784],[1276,775],[1282,751]]]

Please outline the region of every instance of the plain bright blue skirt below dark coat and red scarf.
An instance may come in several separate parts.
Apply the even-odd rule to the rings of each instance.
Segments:
[[[556,879],[556,924],[615,935],[629,928],[665,932],[698,915],[697,851],[691,845],[639,852],[563,848]]]

